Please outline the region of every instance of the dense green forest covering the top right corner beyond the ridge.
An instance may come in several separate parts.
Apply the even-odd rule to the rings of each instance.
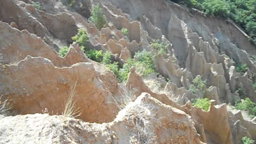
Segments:
[[[234,20],[256,42],[255,0],[170,0],[204,11],[207,15]]]

